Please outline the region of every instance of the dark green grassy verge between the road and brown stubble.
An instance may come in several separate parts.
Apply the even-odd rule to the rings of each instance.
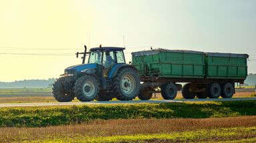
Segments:
[[[0,108],[0,127],[55,126],[94,119],[250,116],[256,115],[255,108],[254,100]]]

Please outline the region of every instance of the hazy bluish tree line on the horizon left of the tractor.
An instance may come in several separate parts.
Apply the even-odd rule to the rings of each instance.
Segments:
[[[14,82],[0,82],[0,88],[24,88],[24,87],[49,87],[52,86],[55,78],[47,80],[15,80]]]

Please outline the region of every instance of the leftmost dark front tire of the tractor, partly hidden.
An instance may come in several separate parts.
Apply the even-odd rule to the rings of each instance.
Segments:
[[[61,77],[56,80],[53,84],[52,93],[55,100],[59,102],[70,102],[74,99],[74,92],[65,90],[64,85],[64,78]]]

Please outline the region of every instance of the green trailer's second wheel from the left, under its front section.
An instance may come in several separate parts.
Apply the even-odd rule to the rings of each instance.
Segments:
[[[162,98],[166,100],[173,100],[177,96],[176,85],[173,84],[172,82],[162,85],[161,94],[162,94]]]

